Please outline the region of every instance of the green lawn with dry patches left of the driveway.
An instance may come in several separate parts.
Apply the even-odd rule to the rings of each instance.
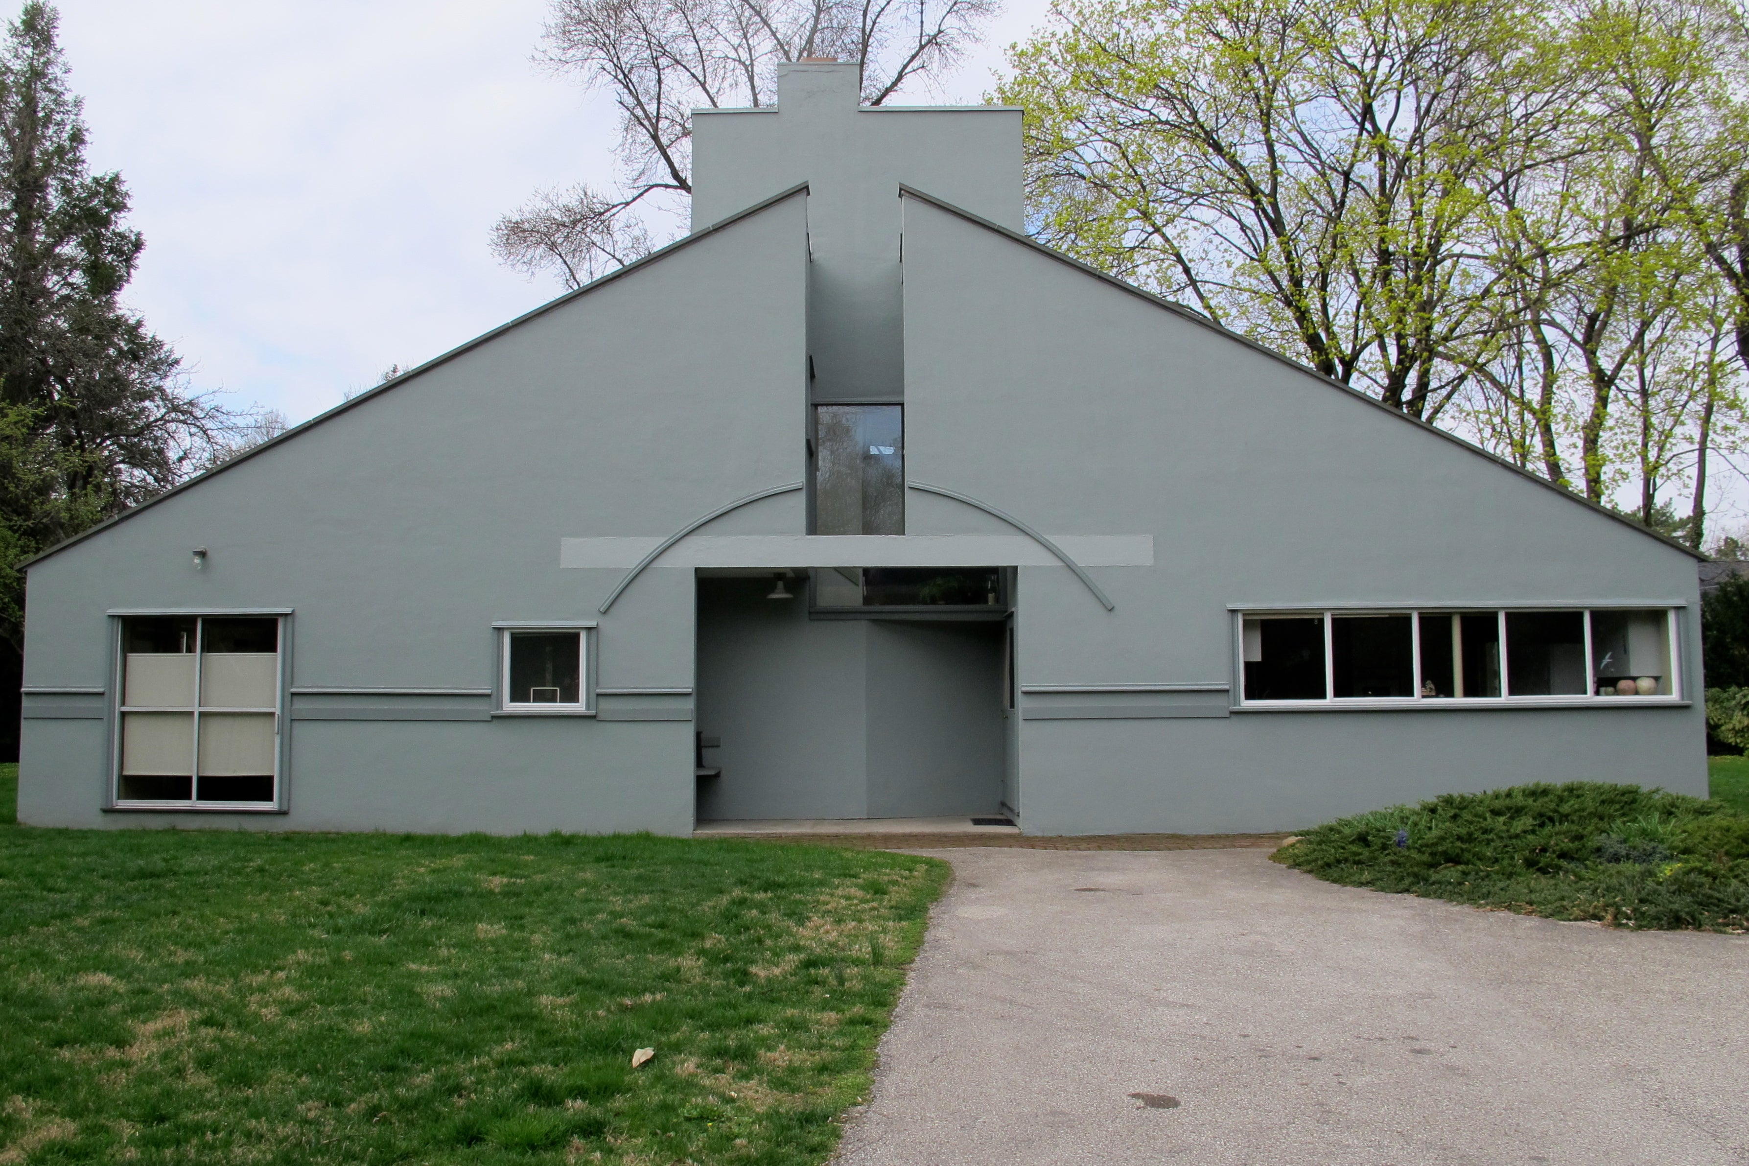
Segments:
[[[0,1163],[820,1163],[946,874],[649,836],[0,829]]]

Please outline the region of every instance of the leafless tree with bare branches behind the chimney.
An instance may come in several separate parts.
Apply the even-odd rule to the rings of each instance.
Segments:
[[[491,231],[511,267],[565,287],[649,253],[638,212],[693,192],[691,112],[763,107],[773,66],[859,61],[881,105],[962,59],[999,0],[553,0],[539,59],[607,89],[619,107],[621,189],[542,191]]]

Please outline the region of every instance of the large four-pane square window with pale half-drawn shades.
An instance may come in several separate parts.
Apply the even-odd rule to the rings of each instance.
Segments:
[[[278,711],[278,619],[128,619],[115,801],[273,804]]]

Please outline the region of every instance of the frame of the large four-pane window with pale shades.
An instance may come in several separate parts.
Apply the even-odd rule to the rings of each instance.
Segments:
[[[261,608],[243,608],[243,610],[126,610],[110,612],[115,624],[115,698],[110,710],[110,781],[108,781],[108,804],[107,809],[150,809],[150,811],[220,811],[220,813],[283,813],[285,811],[285,664],[290,659],[290,645],[287,638],[290,635],[290,610],[261,610]],[[159,706],[159,704],[126,704],[128,698],[128,621],[129,619],[192,619],[194,621],[194,704],[191,706]],[[206,706],[201,704],[201,659],[206,656],[205,638],[205,621],[208,619],[273,619],[278,626],[275,628],[275,643],[278,650],[275,652],[275,670],[273,670],[273,708],[231,708],[231,706]],[[124,717],[128,713],[192,713],[192,750],[194,757],[189,766],[189,797],[182,801],[170,799],[142,799],[121,795],[121,764],[122,764],[122,732]],[[273,797],[264,802],[226,802],[226,801],[201,801],[198,794],[201,792],[201,715],[203,713],[273,713]]]

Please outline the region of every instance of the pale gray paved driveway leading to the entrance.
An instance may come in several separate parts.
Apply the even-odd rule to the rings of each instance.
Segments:
[[[958,878],[843,1166],[1749,1163],[1749,937],[1259,850],[922,853]]]

